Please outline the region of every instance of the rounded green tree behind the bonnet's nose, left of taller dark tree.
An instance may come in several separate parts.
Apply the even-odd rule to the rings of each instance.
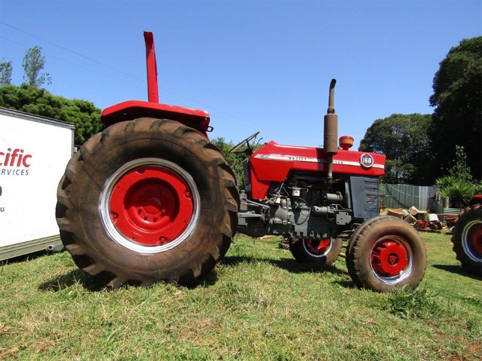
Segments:
[[[387,156],[384,183],[424,185],[430,183],[427,164],[431,160],[427,131],[430,114],[392,114],[377,119],[367,129],[358,151]]]

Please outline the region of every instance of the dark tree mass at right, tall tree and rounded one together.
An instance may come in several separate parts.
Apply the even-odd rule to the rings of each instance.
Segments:
[[[377,119],[360,142],[360,151],[387,156],[385,183],[428,185],[451,167],[458,181],[482,177],[482,36],[464,39],[440,62],[433,79],[432,117],[392,114]],[[459,147],[465,148],[466,169],[460,169]],[[465,163],[464,163],[465,164]],[[445,169],[445,171],[444,171]],[[458,184],[459,190],[469,189]]]

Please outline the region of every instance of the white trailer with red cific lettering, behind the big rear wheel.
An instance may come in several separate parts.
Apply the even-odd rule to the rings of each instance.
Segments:
[[[0,108],[0,261],[62,249],[55,204],[74,125]]]

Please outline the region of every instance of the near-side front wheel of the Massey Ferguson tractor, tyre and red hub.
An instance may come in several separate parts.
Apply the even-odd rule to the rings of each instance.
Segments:
[[[348,272],[359,288],[416,288],[427,268],[424,241],[408,223],[379,216],[364,222],[347,247]]]

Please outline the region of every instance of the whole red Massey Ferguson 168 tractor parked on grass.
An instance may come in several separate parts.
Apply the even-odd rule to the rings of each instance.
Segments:
[[[152,33],[144,33],[149,101],[102,112],[108,128],[89,139],[58,186],[56,218],[77,266],[108,287],[165,281],[192,284],[227,252],[236,231],[289,240],[300,262],[332,263],[343,240],[358,287],[415,288],[424,242],[400,219],[378,216],[385,156],[337,146],[335,80],[324,147],[245,147],[245,189],[209,142],[207,112],[158,102]]]

